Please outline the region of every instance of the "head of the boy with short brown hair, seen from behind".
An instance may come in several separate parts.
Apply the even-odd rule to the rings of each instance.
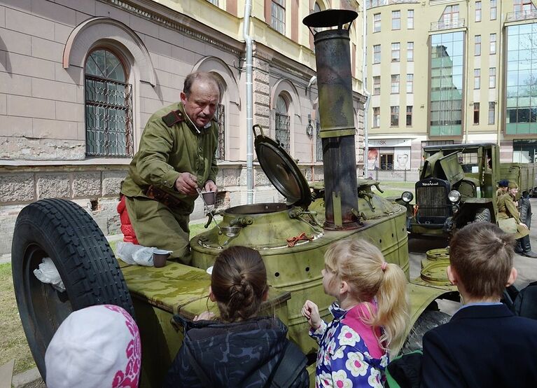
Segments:
[[[470,223],[449,246],[449,263],[475,298],[501,297],[512,269],[514,235],[494,223]]]

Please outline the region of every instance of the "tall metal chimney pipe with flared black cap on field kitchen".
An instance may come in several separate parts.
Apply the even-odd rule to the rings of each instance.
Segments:
[[[358,183],[349,29],[358,13],[327,10],[302,22],[314,35],[323,143],[324,202],[330,230],[358,228]],[[344,25],[349,25],[344,28]],[[313,28],[337,27],[317,32]]]

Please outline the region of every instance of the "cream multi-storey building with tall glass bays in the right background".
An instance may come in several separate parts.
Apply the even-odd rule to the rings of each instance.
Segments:
[[[537,0],[366,8],[368,148],[394,170],[375,177],[402,153],[418,170],[433,144],[494,141],[502,162],[537,162]]]

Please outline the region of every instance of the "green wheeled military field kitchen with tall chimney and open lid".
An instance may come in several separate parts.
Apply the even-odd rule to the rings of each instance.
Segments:
[[[328,318],[332,300],[323,292],[321,270],[332,242],[354,236],[370,240],[410,280],[405,207],[376,195],[372,186],[378,188],[377,181],[356,177],[349,53],[349,28],[356,15],[330,10],[305,20],[309,27],[337,26],[315,34],[324,182],[309,187],[293,158],[256,128],[260,165],[287,202],[226,209],[219,229],[191,240],[192,265],[168,262],[148,268],[116,260],[88,212],[67,200],[40,200],[22,209],[13,235],[13,282],[22,325],[43,377],[46,348],[65,317],[89,305],[112,303],[125,307],[140,328],[141,386],[160,387],[183,338],[172,325],[173,314],[192,318],[207,308],[217,312],[208,298],[206,269],[222,249],[235,244],[256,248],[263,256],[270,283],[265,312],[277,314],[288,325],[290,338],[312,355],[310,373],[316,343],[307,335],[300,307],[312,299]],[[34,276],[46,257],[55,263],[65,291]],[[409,283],[408,293],[408,331],[433,300],[454,297],[445,282],[423,279]]]

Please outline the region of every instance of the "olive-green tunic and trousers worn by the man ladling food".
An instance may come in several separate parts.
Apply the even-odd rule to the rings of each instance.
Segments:
[[[140,244],[168,249],[173,251],[170,258],[190,261],[188,222],[197,196],[179,193],[175,181],[181,172],[195,175],[200,187],[208,180],[216,181],[217,146],[216,122],[198,130],[180,102],[149,118],[121,189]],[[148,198],[146,190],[151,185],[171,195],[174,206]]]

